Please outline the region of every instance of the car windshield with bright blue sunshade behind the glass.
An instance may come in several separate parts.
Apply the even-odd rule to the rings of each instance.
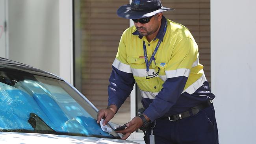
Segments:
[[[0,131],[120,138],[65,81],[0,69]]]

